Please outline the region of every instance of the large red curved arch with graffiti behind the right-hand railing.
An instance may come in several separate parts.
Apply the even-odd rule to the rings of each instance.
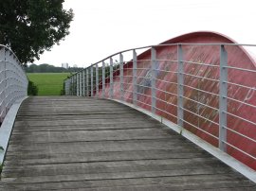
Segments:
[[[218,140],[215,137],[219,136],[219,67],[212,67],[210,65],[219,66],[220,62],[220,47],[219,45],[191,45],[187,43],[235,43],[226,36],[223,36],[214,32],[193,32],[185,34],[164,43],[184,43],[183,48],[183,60],[184,60],[184,73],[190,74],[184,76],[184,128],[192,131],[197,136],[206,140],[215,147],[218,147]],[[246,68],[255,70],[255,61],[249,56],[247,51],[242,46],[225,45],[226,51],[229,55],[228,64],[232,67]],[[177,48],[176,45],[167,46],[155,46],[156,49],[156,114],[159,114],[174,123],[177,123],[176,116],[177,108]],[[137,105],[147,110],[151,110],[151,50],[137,56]],[[191,61],[188,63],[186,61]],[[207,63],[208,66],[203,64],[192,63]],[[133,98],[133,62],[127,62],[124,65],[124,84],[125,91],[124,97],[126,102],[131,102]],[[139,69],[141,68],[141,69]],[[169,72],[166,72],[169,71]],[[114,73],[114,96],[119,98],[119,71]],[[201,78],[194,78],[193,76],[199,76]],[[115,78],[116,77],[116,78]],[[143,77],[143,78],[141,78]],[[210,80],[214,79],[214,80]],[[229,69],[228,80],[232,83],[241,84],[251,87],[243,88],[237,85],[228,85],[228,97],[239,101],[246,102],[248,104],[256,105],[256,75],[255,73],[248,73],[241,70]],[[166,82],[165,82],[166,81]],[[168,82],[173,82],[168,83]],[[106,84],[108,84],[106,82]],[[106,86],[106,92],[109,91],[110,86]],[[205,92],[197,91],[196,89],[203,90]],[[170,94],[168,94],[168,93]],[[208,94],[210,92],[212,94]],[[101,90],[100,90],[101,93]],[[210,107],[205,107],[192,100],[196,100]],[[168,104],[170,103],[170,104]],[[192,113],[191,113],[192,112]],[[199,117],[198,115],[202,117]],[[228,113],[240,116],[247,120],[256,122],[256,110],[238,101],[228,100]],[[208,121],[207,119],[210,119]],[[198,127],[196,129],[195,127]],[[251,156],[256,156],[256,143],[239,134],[232,132],[235,130],[239,133],[245,134],[252,139],[256,139],[256,127],[247,121],[241,120],[237,117],[228,114],[228,128],[227,130],[227,143],[236,148],[232,148],[228,145],[227,152],[234,158],[242,161],[248,166],[256,169],[256,162],[251,157],[247,156],[237,148],[245,150]],[[200,129],[200,130],[199,130]],[[213,136],[212,136],[213,135]],[[215,136],[215,137],[214,137]]]

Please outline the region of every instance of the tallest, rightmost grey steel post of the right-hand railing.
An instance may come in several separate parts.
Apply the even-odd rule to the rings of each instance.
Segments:
[[[220,46],[220,90],[219,90],[219,148],[227,150],[227,94],[228,94],[228,54],[224,45]]]

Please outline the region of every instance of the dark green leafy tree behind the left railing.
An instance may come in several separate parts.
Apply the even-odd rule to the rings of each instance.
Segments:
[[[0,0],[0,43],[22,63],[39,60],[45,50],[69,34],[73,10],[64,0]]]

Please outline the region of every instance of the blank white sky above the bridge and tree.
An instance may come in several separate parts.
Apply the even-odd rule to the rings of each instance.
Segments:
[[[162,43],[199,30],[256,44],[255,0],[65,0],[70,34],[39,63],[85,67],[124,49]]]

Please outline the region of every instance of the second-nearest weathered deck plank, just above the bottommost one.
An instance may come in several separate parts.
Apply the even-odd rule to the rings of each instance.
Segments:
[[[58,169],[56,169],[58,171]],[[109,173],[73,173],[65,175],[53,176],[37,176],[23,177],[3,177],[2,182],[5,183],[40,183],[40,182],[73,182],[73,181],[94,181],[94,180],[117,180],[117,179],[137,179],[137,178],[156,178],[156,177],[179,177],[182,176],[197,176],[209,174],[229,174],[230,169],[225,167],[211,167],[211,168],[194,168],[194,169],[174,169],[174,170],[154,170],[154,171],[119,171]],[[240,177],[241,178],[241,177]],[[203,181],[203,180],[201,180]]]

